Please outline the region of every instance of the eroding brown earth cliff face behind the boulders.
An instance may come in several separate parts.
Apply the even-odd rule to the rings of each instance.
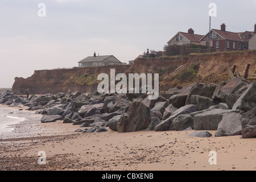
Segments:
[[[166,91],[174,86],[184,86],[192,82],[219,84],[228,80],[228,69],[237,65],[236,72],[244,74],[247,64],[251,64],[249,74],[256,73],[256,51],[233,53],[212,53],[189,55],[188,57],[171,57],[160,59],[138,59],[133,65],[112,65],[104,67],[88,67],[73,69],[53,69],[35,71],[34,75],[24,78],[15,78],[12,91],[24,94],[29,88],[31,94],[50,92],[67,93],[80,91],[93,92],[100,81],[100,73],[110,75],[110,69],[118,73],[159,73],[159,89]]]

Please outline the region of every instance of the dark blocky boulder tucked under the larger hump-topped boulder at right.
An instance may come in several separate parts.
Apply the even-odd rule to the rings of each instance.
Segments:
[[[212,99],[197,95],[191,96],[191,104],[196,105],[199,110],[209,109],[210,106],[215,105]]]

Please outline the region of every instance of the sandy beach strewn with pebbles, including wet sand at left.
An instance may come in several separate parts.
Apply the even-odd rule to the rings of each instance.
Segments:
[[[42,115],[14,109],[15,116],[28,119],[1,134],[1,171],[256,170],[255,139],[189,137],[194,131],[75,133],[79,126],[40,123]],[[46,152],[45,165],[38,164],[39,151]],[[209,164],[209,151],[216,152],[217,164]]]

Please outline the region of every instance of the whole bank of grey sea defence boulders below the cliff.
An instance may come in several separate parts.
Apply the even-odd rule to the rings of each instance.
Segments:
[[[250,84],[243,78],[233,78],[219,85],[196,83],[172,88],[164,97],[161,94],[158,100],[148,100],[147,94],[97,91],[87,96],[73,92],[30,98],[6,92],[0,94],[0,103],[27,106],[43,114],[42,122],[63,120],[80,127],[109,127],[120,133],[190,128],[216,130],[216,137],[256,137],[256,81]]]

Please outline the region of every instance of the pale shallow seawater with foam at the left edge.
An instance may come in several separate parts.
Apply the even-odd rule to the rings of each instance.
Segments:
[[[26,120],[26,118],[13,116],[14,111],[16,110],[0,107],[0,134],[13,131],[14,128],[11,125],[16,125]]]

